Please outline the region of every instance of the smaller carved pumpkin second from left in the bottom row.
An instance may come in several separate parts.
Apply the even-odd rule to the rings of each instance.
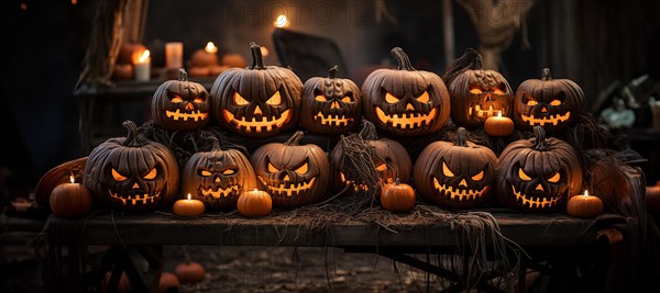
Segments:
[[[258,187],[250,160],[238,149],[222,149],[212,137],[209,151],[196,153],[182,171],[182,193],[205,203],[209,210],[234,207],[244,190]]]

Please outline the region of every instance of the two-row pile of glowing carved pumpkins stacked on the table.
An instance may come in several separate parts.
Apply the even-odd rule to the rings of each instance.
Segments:
[[[257,45],[251,53],[249,67],[224,70],[210,92],[182,70],[154,92],[151,110],[155,127],[219,127],[258,144],[254,151],[216,136],[182,160],[167,142],[147,139],[125,122],[127,137],[108,139],[88,157],[84,185],[95,201],[145,212],[190,194],[206,211],[238,206],[244,215],[267,215],[272,206],[316,204],[331,192],[377,191],[375,200],[393,212],[410,211],[419,195],[450,210],[501,205],[537,213],[565,211],[590,183],[576,149],[551,137],[579,123],[584,93],[571,80],[551,79],[548,69],[514,92],[499,72],[481,68],[475,50],[441,78],[416,70],[396,47],[398,68],[375,70],[359,88],[337,77],[337,67],[302,83],[290,69],[265,66]],[[305,132],[339,142],[300,144]],[[284,134],[288,140],[277,140]],[[414,154],[406,139],[429,143]],[[578,206],[595,209],[587,216],[603,209]]]

